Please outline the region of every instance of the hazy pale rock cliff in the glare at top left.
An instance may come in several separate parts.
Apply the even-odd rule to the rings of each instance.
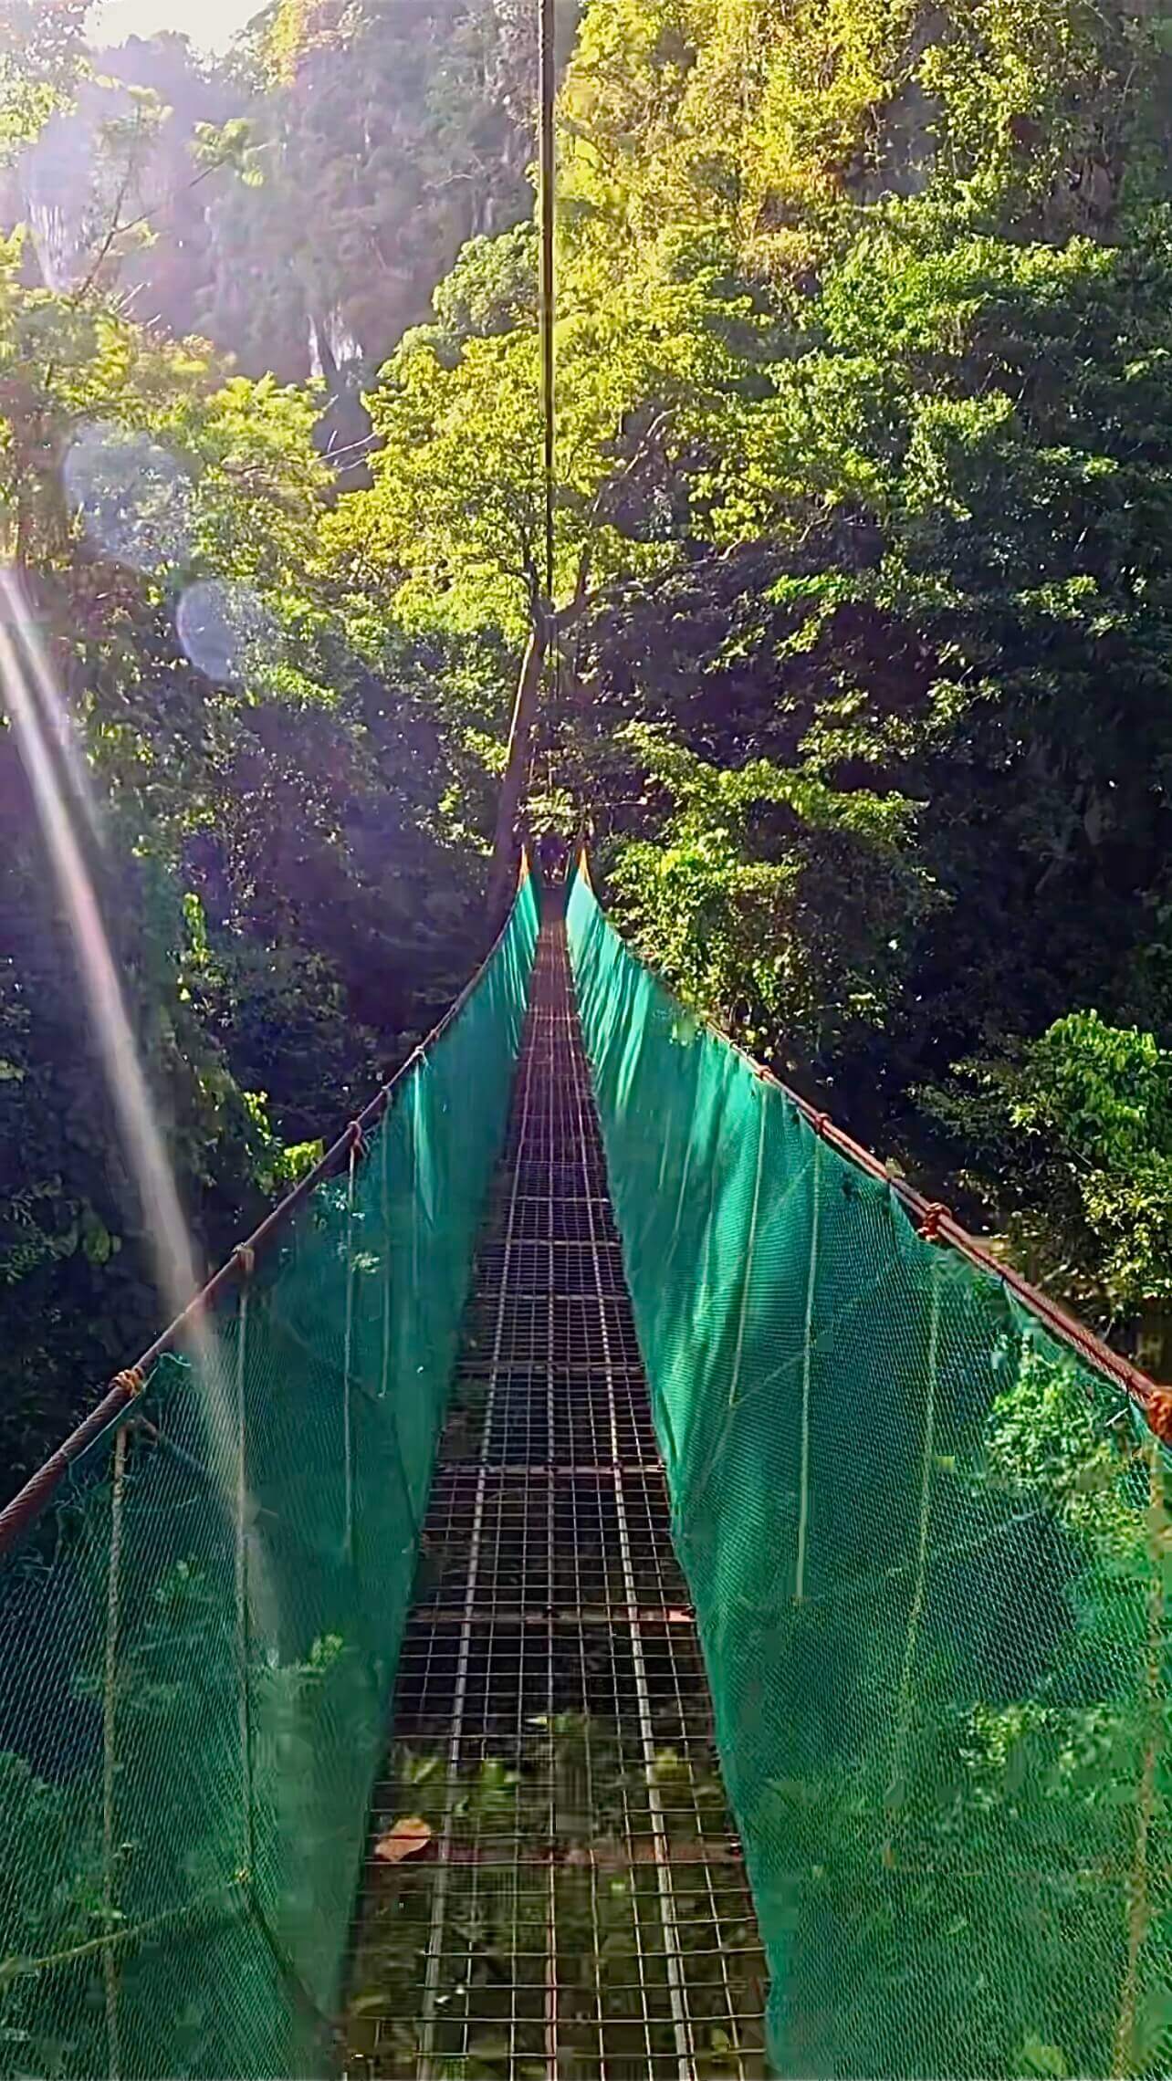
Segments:
[[[562,62],[575,23],[562,0]],[[25,227],[29,287],[77,289],[100,256],[100,287],[146,325],[208,337],[246,375],[321,383],[319,441],[352,489],[373,370],[431,316],[464,241],[531,208],[533,10],[316,0],[281,25],[277,54],[248,31],[223,62],[173,33],[92,52],[0,171],[0,231]],[[225,125],[231,164],[208,169]]]

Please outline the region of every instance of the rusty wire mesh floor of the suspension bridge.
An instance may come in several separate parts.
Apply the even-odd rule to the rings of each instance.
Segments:
[[[762,2004],[554,920],[375,1792],[348,2075],[749,2081]]]

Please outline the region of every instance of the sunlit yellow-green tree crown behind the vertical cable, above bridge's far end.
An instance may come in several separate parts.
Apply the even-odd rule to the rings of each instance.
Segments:
[[[489,258],[473,254],[477,275]],[[458,306],[439,308],[452,318]],[[672,562],[662,479],[739,383],[729,335],[743,318],[706,273],[618,291],[558,327],[558,601]],[[543,583],[535,331],[412,333],[368,406],[375,481],[333,516],[331,551],[362,587],[396,583],[406,626],[518,645]]]

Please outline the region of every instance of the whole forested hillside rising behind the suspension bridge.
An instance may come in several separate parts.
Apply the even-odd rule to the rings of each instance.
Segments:
[[[529,820],[1172,1363],[1172,15],[566,0]],[[527,0],[0,6],[0,560],[202,1259],[487,945],[541,593]],[[46,695],[48,699],[48,695]],[[160,1303],[0,730],[0,1459]]]

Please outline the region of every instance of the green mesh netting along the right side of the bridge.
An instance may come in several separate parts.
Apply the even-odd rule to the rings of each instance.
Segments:
[[[568,932],[779,2073],[1168,2073],[1166,1455]]]

